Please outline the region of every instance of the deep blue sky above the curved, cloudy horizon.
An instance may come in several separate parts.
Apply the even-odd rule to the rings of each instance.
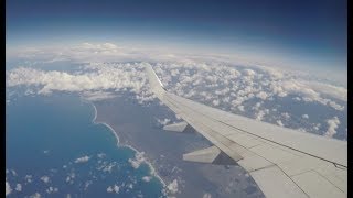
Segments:
[[[7,0],[7,47],[83,42],[346,69],[346,0]]]

